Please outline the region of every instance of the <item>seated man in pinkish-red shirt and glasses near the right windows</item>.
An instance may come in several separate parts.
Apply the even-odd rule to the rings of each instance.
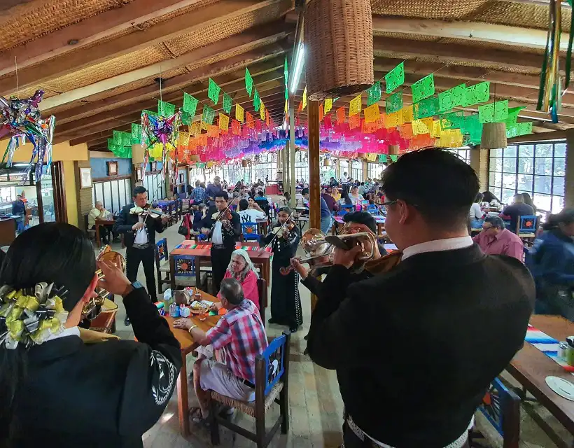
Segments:
[[[508,255],[522,261],[524,243],[515,233],[505,229],[498,216],[486,216],[482,232],[472,238],[486,255]]]

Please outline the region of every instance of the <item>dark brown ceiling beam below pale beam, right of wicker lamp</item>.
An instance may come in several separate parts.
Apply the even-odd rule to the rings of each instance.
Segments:
[[[458,43],[435,43],[400,38],[373,37],[373,53],[378,57],[396,57],[442,62],[489,64],[505,69],[540,70],[542,55],[521,53],[496,48],[480,48]]]

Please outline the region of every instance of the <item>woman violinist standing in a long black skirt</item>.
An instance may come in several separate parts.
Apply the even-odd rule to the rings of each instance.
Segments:
[[[283,275],[281,267],[288,267],[289,260],[297,252],[297,244],[301,237],[300,230],[291,218],[288,207],[279,209],[278,222],[263,239],[265,244],[271,243],[273,251],[273,273],[271,287],[271,318],[269,323],[287,325],[290,332],[296,332],[303,323],[301,300],[299,297],[299,274],[291,270]]]

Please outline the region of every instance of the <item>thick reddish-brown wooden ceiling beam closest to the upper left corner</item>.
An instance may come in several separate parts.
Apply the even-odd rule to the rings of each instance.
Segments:
[[[106,10],[6,50],[0,60],[0,76],[15,70],[15,57],[18,58],[18,69],[22,70],[31,64],[77,50],[127,29],[139,32],[137,27],[145,26],[146,21],[199,2],[200,0],[133,0],[123,3],[118,8]]]

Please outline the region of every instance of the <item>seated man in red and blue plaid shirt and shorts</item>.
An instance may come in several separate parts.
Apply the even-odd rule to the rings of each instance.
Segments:
[[[188,318],[174,322],[202,346],[212,346],[221,362],[204,355],[193,366],[193,386],[202,417],[209,412],[209,391],[242,401],[255,400],[255,357],[267,348],[267,335],[255,304],[244,298],[236,279],[221,282],[221,306],[228,310],[207,333]]]

